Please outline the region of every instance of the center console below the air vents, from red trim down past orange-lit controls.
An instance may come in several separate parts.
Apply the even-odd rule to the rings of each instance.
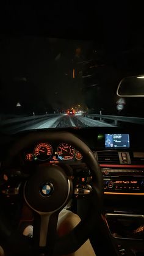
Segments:
[[[102,167],[106,222],[118,255],[144,255],[144,167]],[[111,205],[111,208],[110,208]]]

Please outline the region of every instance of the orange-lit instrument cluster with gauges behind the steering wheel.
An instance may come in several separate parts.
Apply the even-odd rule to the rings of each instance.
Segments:
[[[59,145],[51,145],[48,142],[40,142],[29,152],[24,152],[24,160],[49,161],[49,163],[59,163],[61,161],[81,161],[82,154],[73,145],[62,142]]]

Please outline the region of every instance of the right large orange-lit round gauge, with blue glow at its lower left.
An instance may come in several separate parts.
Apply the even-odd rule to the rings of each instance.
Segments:
[[[73,158],[75,153],[75,148],[68,143],[61,143],[57,147],[57,155],[60,160],[70,160]]]

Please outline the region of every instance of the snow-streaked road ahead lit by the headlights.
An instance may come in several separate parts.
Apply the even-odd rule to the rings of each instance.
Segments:
[[[39,120],[33,118],[32,120],[25,120],[26,117],[13,119],[13,122],[7,121],[5,125],[1,127],[1,131],[5,133],[16,133],[18,131],[43,129],[43,128],[65,128],[65,127],[88,127],[88,126],[114,126],[106,122],[93,120],[88,117],[84,117],[81,114],[67,115],[45,115]]]

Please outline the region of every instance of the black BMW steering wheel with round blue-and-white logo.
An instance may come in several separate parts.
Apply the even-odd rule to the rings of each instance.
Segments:
[[[0,216],[0,232],[5,238],[2,244],[6,255],[62,255],[70,254],[89,238],[96,219],[101,214],[103,206],[103,176],[93,152],[78,137],[68,132],[57,131],[32,131],[19,138],[9,150],[5,161],[5,170],[10,167],[13,158],[29,145],[38,141],[69,142],[84,156],[85,163],[92,173],[92,192],[90,200],[92,209],[84,220],[67,235],[58,237],[57,219],[60,211],[67,205],[73,196],[73,182],[68,175],[67,165],[63,168],[56,164],[45,166],[41,164],[35,167],[31,175],[22,178],[20,189],[20,201],[26,203],[34,212],[34,235],[29,238],[20,233],[20,230],[12,230],[7,227],[8,219]],[[8,173],[9,172],[9,173]],[[7,177],[11,175],[11,170]],[[21,175],[20,175],[21,176]],[[48,186],[48,192],[43,189]],[[9,248],[9,250],[7,250]]]

